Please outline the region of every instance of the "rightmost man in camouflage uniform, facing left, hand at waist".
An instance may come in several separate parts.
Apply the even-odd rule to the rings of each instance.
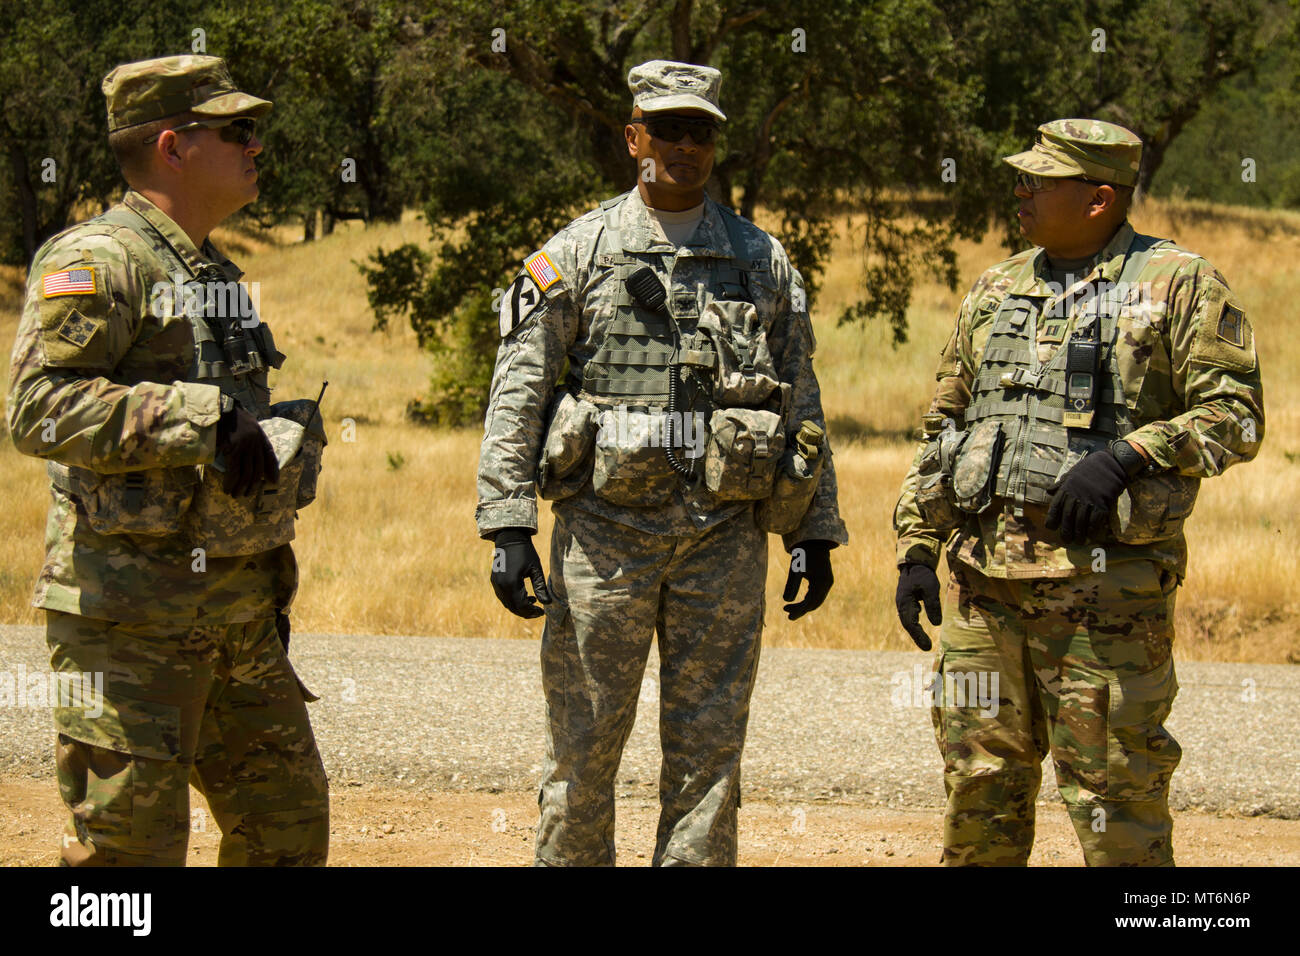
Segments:
[[[1223,277],[1128,225],[1140,157],[1126,129],[1058,120],[1006,159],[1036,248],[962,302],[894,512],[904,627],[928,650],[918,602],[942,619],[945,864],[1026,862],[1049,752],[1089,865],[1174,860],[1182,528],[1200,479],[1258,451],[1264,405]]]

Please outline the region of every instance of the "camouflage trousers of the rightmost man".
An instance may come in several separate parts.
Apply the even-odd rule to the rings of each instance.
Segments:
[[[1173,865],[1174,575],[1148,561],[1066,579],[949,568],[932,709],[944,864],[1028,860],[1050,752],[1089,866]]]

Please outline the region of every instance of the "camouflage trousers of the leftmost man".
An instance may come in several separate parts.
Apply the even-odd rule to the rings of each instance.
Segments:
[[[47,611],[56,672],[103,674],[55,708],[69,866],[182,866],[190,784],[221,829],[221,866],[324,865],[325,769],[274,619],[181,627]],[[64,704],[64,701],[60,701]]]

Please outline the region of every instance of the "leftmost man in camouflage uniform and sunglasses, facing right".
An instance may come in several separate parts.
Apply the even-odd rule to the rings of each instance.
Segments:
[[[270,103],[207,56],[118,66],[104,94],[131,189],[36,252],[8,395],[14,444],[49,463],[52,667],[104,675],[101,701],[55,710],[61,858],[183,865],[194,783],[222,865],[324,864],[325,773],[286,657],[287,541],[324,432],[315,402],[270,405],[285,356],[207,238],[257,196]]]

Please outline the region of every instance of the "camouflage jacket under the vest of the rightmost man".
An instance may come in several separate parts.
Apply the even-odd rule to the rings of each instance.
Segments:
[[[1080,282],[1115,282],[1134,229],[1124,222],[1098,254]],[[1048,285],[1046,256],[1031,248],[987,271],[962,300],[957,326],[940,356],[939,385],[930,415],[963,424],[992,320],[1008,295],[1043,295]],[[1190,477],[1221,473],[1251,460],[1264,438],[1264,393],[1254,338],[1223,277],[1201,256],[1164,245],[1140,273],[1141,295],[1128,299],[1118,315],[1115,365],[1123,401],[1134,420],[1126,437],[1160,468]],[[1076,289],[1072,286],[1072,289]],[[1076,311],[1076,310],[1075,310]],[[1062,347],[1076,315],[1063,323],[1040,323],[1037,359],[1046,363]],[[1225,323],[1227,325],[1225,326]],[[922,438],[904,479],[894,509],[897,562],[939,563],[948,538],[926,525],[916,507]],[[991,578],[1065,578],[1092,568],[1096,544],[1065,546],[1044,527],[1045,509],[1017,516],[1009,502],[993,505],[952,532],[949,561],[961,561]],[[1149,545],[1105,545],[1108,562],[1131,558],[1157,561],[1179,578],[1187,567],[1182,533]]]

